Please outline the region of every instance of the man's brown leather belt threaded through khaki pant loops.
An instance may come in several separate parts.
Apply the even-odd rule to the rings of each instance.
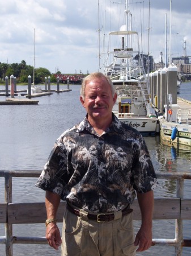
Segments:
[[[133,209],[130,209],[128,207],[129,207],[129,205],[125,209],[121,210],[122,216],[133,212]],[[71,205],[67,204],[67,209],[71,213],[77,215],[78,217],[80,216],[79,210],[71,207]],[[112,221],[112,220],[114,220],[114,214],[113,213],[110,213],[110,214],[91,214],[91,213],[88,213],[87,217],[88,217],[89,220],[95,220],[97,222]]]

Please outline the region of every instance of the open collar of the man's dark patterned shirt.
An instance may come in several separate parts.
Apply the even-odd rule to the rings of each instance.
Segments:
[[[90,133],[96,134],[94,128],[90,125],[90,122],[88,121],[87,117],[88,117],[88,114],[83,119],[83,121],[79,123],[77,133],[82,133],[84,131],[84,129],[86,129]],[[123,133],[121,129],[122,129],[121,122],[116,117],[116,115],[114,115],[112,113],[112,123],[105,132],[106,133],[112,133],[112,132],[115,131],[116,133]]]

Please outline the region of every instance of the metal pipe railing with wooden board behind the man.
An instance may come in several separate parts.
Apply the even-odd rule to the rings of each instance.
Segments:
[[[5,203],[0,203],[0,223],[5,224],[5,236],[0,236],[0,243],[5,243],[6,256],[12,256],[12,245],[14,243],[47,244],[45,237],[18,237],[12,234],[13,224],[37,224],[46,219],[45,203],[12,203],[12,177],[39,177],[41,171],[5,171],[0,170],[0,177],[5,179]],[[191,179],[190,172],[158,172],[158,180],[176,180],[176,196],[155,198],[154,220],[175,220],[175,237],[171,239],[152,239],[152,246],[174,246],[175,256],[182,255],[182,247],[191,246],[190,239],[183,239],[182,220],[191,220],[191,199],[184,199],[184,180]],[[65,203],[62,202],[57,212],[58,222],[63,220]],[[138,201],[135,200],[132,208],[134,220],[141,220]],[[153,229],[155,226],[153,227]],[[158,228],[158,227],[157,227]],[[28,229],[30,234],[30,229]],[[45,230],[43,230],[45,234]]]

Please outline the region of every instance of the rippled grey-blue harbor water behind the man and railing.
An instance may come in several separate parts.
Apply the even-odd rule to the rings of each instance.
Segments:
[[[42,87],[43,88],[43,87]],[[66,85],[62,85],[66,89]],[[180,87],[179,97],[191,100],[191,83]],[[4,89],[0,86],[0,89]],[[23,86],[18,86],[23,89]],[[52,88],[53,89],[53,86]],[[56,86],[55,86],[55,89]],[[36,98],[39,105],[1,105],[0,106],[0,170],[42,170],[53,144],[68,127],[84,118],[85,110],[79,101],[79,85],[71,85],[71,92],[54,93],[51,96]],[[190,93],[189,93],[190,92]],[[1,96],[0,100],[5,97]],[[191,152],[179,151],[163,145],[159,137],[146,137],[155,171],[190,172]],[[14,203],[44,201],[45,192],[35,187],[34,178],[14,178]],[[155,190],[155,197],[175,197],[175,181],[159,180],[160,187]],[[4,202],[4,179],[0,178],[0,202]],[[190,182],[185,181],[184,197],[190,197]],[[61,230],[61,224],[58,224]],[[135,222],[135,231],[139,221]],[[184,221],[184,238],[189,239],[191,221]],[[44,224],[14,225],[15,236],[45,236]],[[0,236],[5,236],[5,228],[0,224]],[[154,221],[153,238],[174,238],[175,221]],[[183,255],[191,255],[185,248]],[[60,255],[48,245],[16,245],[14,256],[21,255]],[[167,246],[152,246],[150,250],[137,255],[175,255],[175,249]],[[0,255],[5,255],[5,245],[0,244]]]

